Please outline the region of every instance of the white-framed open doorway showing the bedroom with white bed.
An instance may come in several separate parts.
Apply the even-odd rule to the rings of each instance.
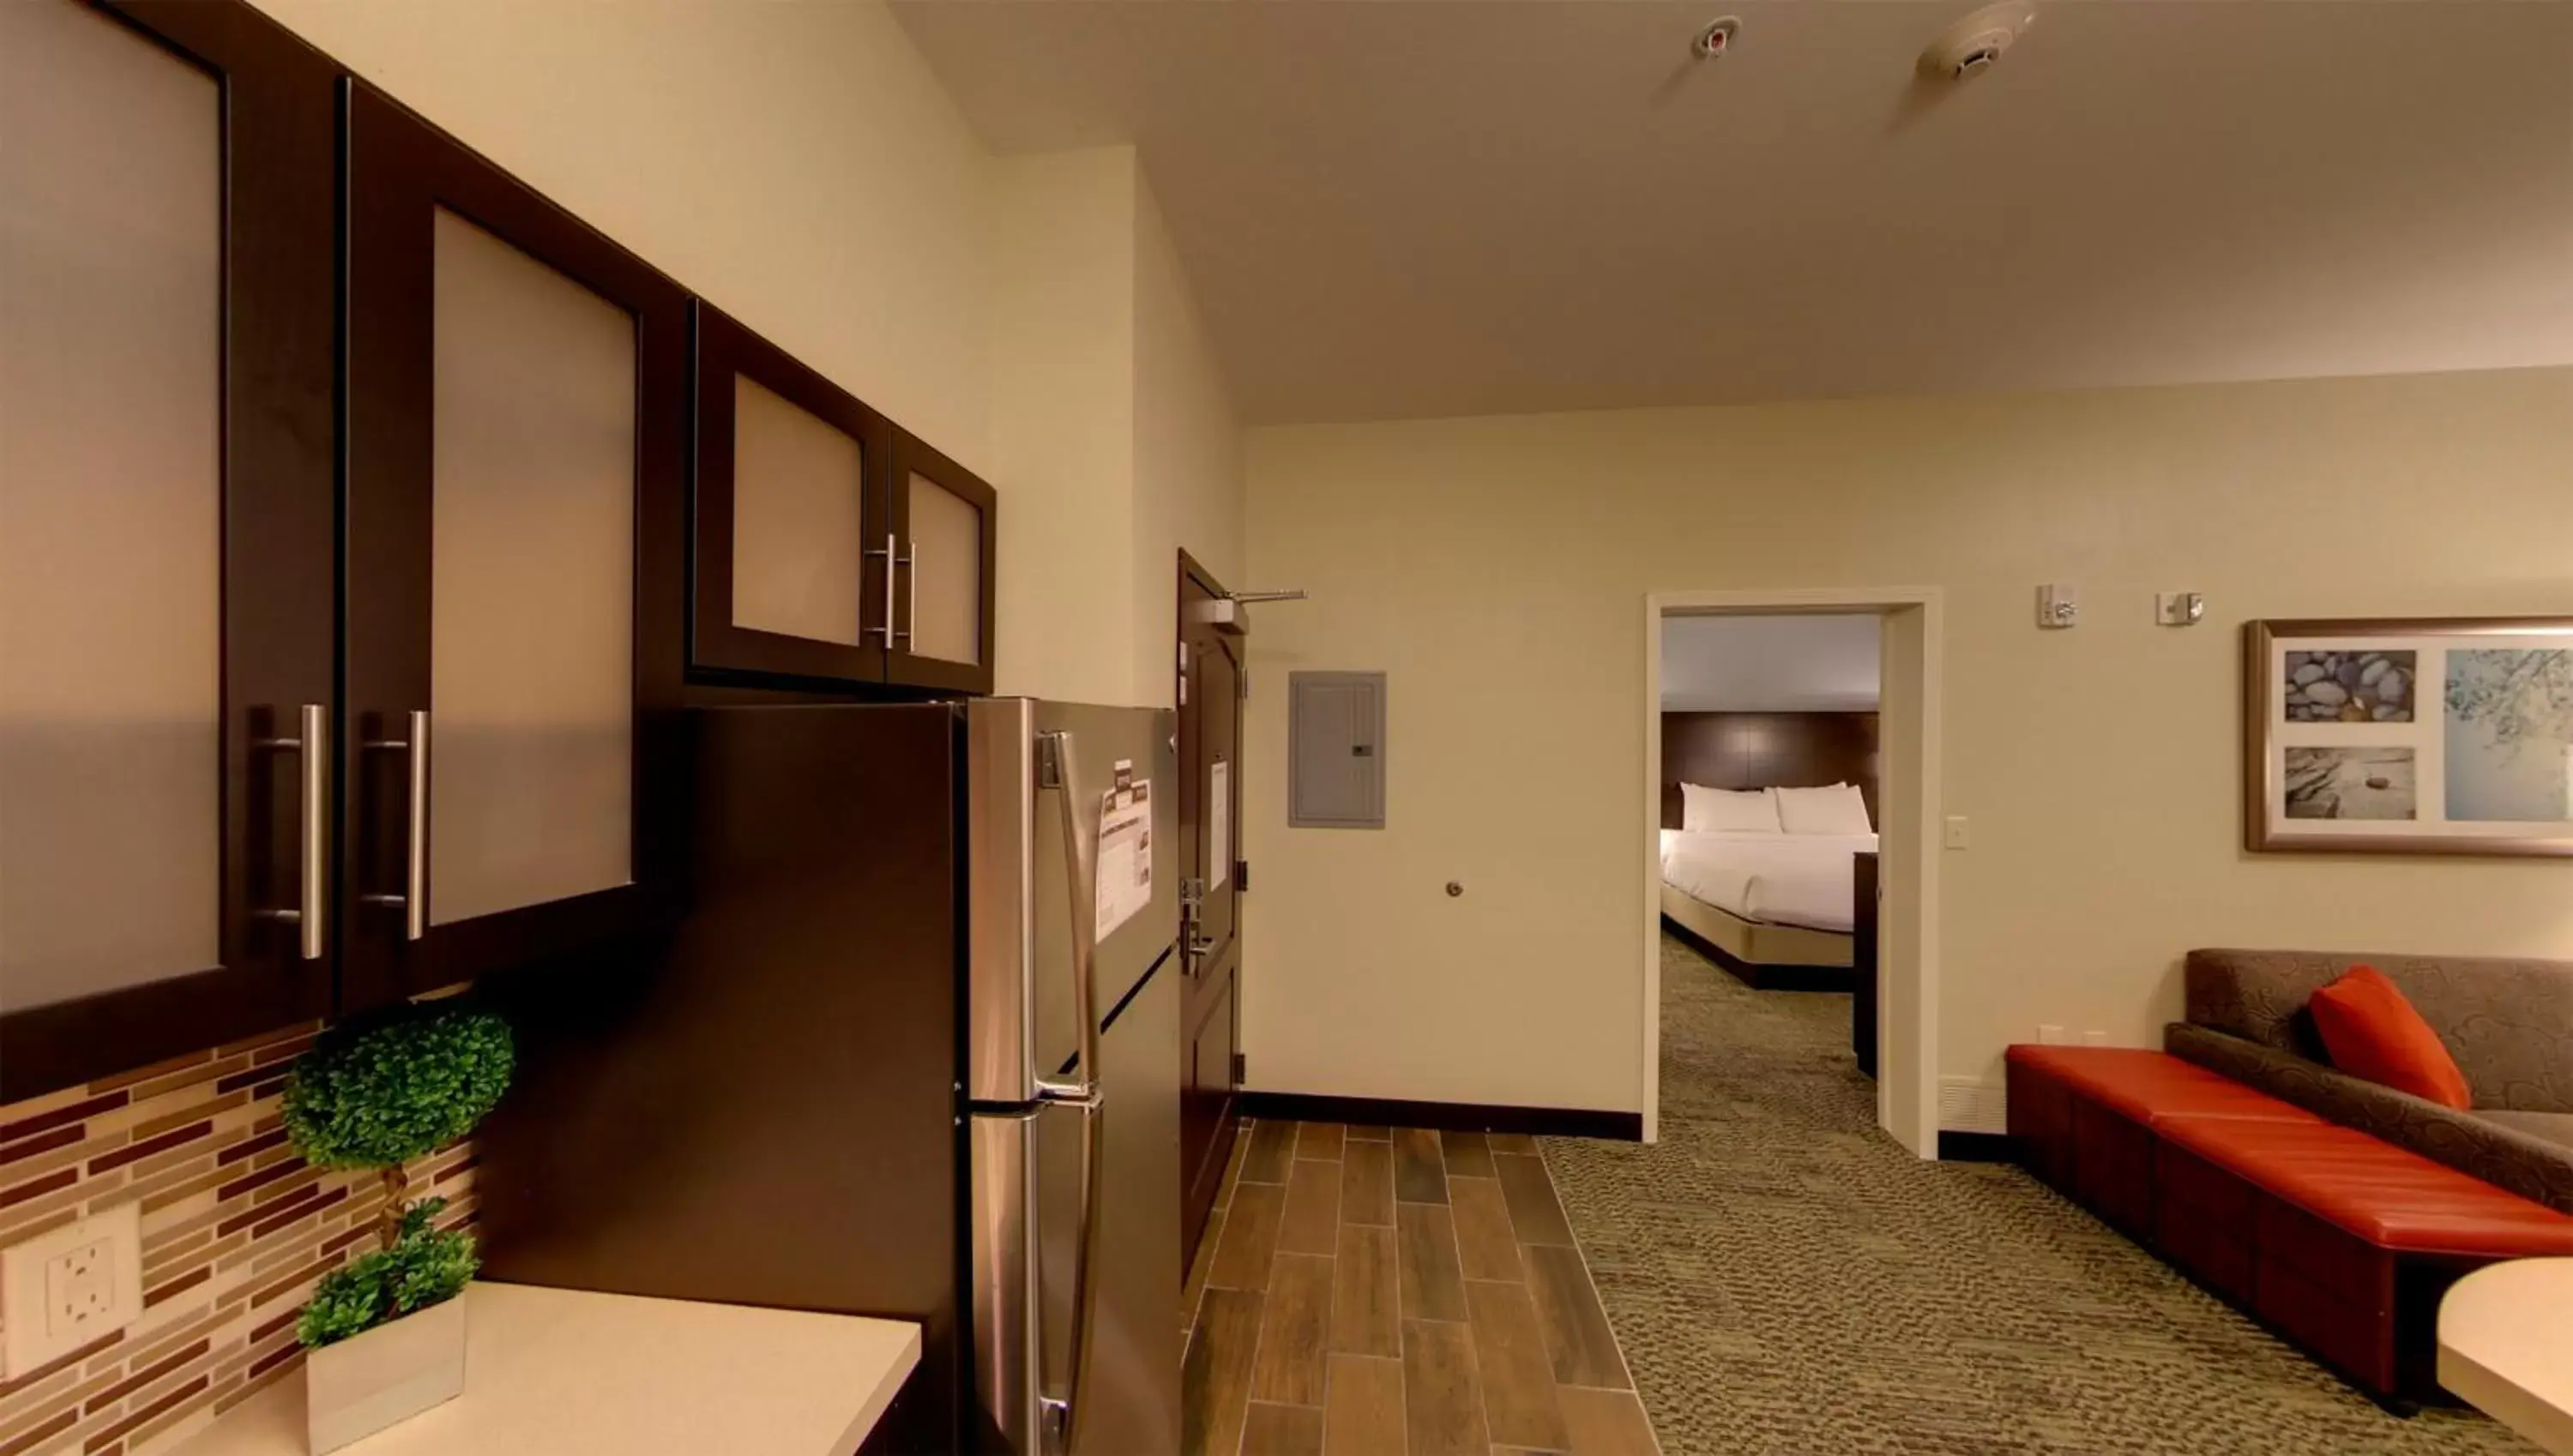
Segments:
[[[1937,594],[1647,612],[1647,1137],[1935,1158]]]

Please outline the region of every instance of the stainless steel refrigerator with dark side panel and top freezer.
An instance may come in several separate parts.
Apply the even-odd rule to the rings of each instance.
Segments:
[[[1158,710],[715,707],[623,954],[497,996],[486,1273],[919,1320],[870,1448],[1178,1451],[1178,785]]]

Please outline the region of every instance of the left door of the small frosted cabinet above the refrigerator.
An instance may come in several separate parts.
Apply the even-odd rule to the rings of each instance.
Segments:
[[[895,610],[885,419],[720,309],[695,309],[690,661],[883,682]]]

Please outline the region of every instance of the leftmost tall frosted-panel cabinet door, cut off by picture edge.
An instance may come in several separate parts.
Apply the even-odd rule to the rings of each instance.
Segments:
[[[329,1011],[334,75],[247,5],[10,0],[0,139],[15,1101]]]

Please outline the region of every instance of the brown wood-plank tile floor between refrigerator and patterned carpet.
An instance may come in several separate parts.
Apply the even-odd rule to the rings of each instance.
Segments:
[[[1660,1456],[1526,1137],[1243,1124],[1178,1320],[1189,1456]]]

